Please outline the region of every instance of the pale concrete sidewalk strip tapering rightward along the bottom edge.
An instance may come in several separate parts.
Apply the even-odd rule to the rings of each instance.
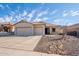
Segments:
[[[34,51],[24,51],[16,49],[0,48],[0,56],[59,56],[56,54],[46,54]]]

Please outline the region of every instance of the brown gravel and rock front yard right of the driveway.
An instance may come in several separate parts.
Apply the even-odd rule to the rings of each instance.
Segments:
[[[78,56],[78,42],[79,38],[68,35],[64,38],[60,35],[43,36],[34,50],[48,54]]]

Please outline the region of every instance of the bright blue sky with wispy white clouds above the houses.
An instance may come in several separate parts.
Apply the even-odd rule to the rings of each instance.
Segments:
[[[0,3],[0,22],[45,21],[58,25],[79,23],[79,4]]]

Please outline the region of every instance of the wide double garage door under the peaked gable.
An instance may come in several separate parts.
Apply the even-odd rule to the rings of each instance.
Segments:
[[[32,35],[32,28],[17,28],[16,35],[22,35],[22,36]]]

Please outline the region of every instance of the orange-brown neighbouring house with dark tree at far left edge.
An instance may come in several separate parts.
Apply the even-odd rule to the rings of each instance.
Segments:
[[[0,23],[0,36],[14,35],[15,27],[10,22]]]

